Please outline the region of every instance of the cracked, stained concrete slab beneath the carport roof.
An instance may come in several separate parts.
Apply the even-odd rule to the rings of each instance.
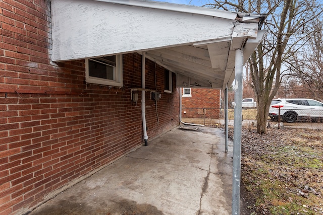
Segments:
[[[222,129],[172,129],[30,215],[231,214],[232,147]]]

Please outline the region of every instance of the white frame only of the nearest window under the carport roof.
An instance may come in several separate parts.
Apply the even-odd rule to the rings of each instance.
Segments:
[[[102,79],[102,78],[89,76],[89,59],[91,59],[91,58],[85,59],[85,81],[86,81],[86,83],[123,87],[122,54],[116,55],[116,67],[114,68],[114,80]],[[92,59],[95,59],[95,58],[92,58]],[[108,65],[108,64],[106,64],[106,65]]]

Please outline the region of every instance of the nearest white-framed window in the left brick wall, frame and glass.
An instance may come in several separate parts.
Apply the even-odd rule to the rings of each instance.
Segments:
[[[122,87],[122,55],[85,59],[87,83]]]

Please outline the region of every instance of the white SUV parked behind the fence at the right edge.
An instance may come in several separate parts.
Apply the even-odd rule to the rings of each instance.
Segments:
[[[277,121],[297,120],[323,121],[323,103],[313,99],[273,99],[268,114]]]

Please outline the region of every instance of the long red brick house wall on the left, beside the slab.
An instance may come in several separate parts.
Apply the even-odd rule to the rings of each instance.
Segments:
[[[50,2],[0,1],[0,214],[20,214],[142,145],[141,55],[123,56],[124,87],[85,83],[84,60],[50,61]],[[149,139],[179,124],[179,92],[146,60]],[[139,101],[141,101],[141,92]],[[159,122],[157,122],[157,114]],[[149,142],[148,139],[148,142]]]

